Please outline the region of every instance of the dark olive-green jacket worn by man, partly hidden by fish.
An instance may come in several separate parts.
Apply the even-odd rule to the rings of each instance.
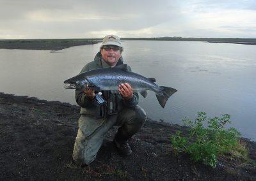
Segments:
[[[122,57],[120,57],[116,65],[120,64],[123,64]],[[80,73],[84,73],[85,71],[89,71],[92,69],[109,67],[110,66],[102,59],[100,52],[98,52],[97,55],[95,55],[94,61],[86,64],[86,66],[84,66]],[[131,68],[129,66],[127,66],[127,68],[129,69],[129,71],[131,71]],[[123,99],[118,91],[102,91],[102,96],[108,101],[107,109],[109,107],[109,100],[113,102],[113,112],[120,112],[124,107],[136,106],[139,101],[139,96],[137,92],[133,92],[133,97],[129,100]],[[77,105],[81,106],[80,113],[97,116],[99,112],[99,110],[97,110],[97,106],[93,103],[93,99],[85,96],[84,92],[76,90],[76,102]]]

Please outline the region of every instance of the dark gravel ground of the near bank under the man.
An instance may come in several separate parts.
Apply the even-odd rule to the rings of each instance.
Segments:
[[[122,157],[109,131],[97,159],[84,168],[72,162],[79,107],[0,93],[0,180],[256,180],[255,165],[223,157],[216,168],[175,156],[170,136],[186,127],[147,120]],[[256,143],[246,140],[256,160]]]

